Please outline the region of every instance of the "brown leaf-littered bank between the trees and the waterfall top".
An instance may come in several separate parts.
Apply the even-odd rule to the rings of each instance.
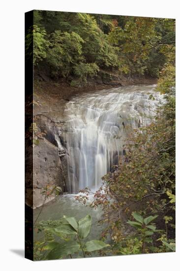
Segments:
[[[132,86],[139,84],[156,84],[157,78],[150,76],[134,76],[134,77],[115,77],[112,80],[102,80],[102,79],[89,79],[87,85],[72,87],[69,82],[64,79],[50,79],[46,75],[35,76],[36,80],[34,81],[34,93],[42,95],[43,100],[49,101],[57,98],[60,100],[68,101],[74,95],[81,93],[90,93],[94,91],[99,91],[102,89],[110,89],[113,87],[120,86]],[[36,97],[34,97],[36,100]]]

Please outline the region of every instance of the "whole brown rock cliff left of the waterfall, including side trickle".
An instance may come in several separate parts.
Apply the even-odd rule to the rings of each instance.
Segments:
[[[64,126],[63,106],[65,100],[47,93],[34,95],[33,123],[34,140],[26,140],[26,159],[29,167],[26,174],[26,204],[32,208],[40,207],[44,202],[44,189],[59,187],[60,192],[66,188],[66,155],[61,137]],[[33,159],[33,165],[31,163]],[[55,192],[46,200],[55,198]],[[33,193],[33,197],[32,197]]]

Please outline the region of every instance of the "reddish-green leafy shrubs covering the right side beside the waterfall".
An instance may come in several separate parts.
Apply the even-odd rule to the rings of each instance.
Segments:
[[[164,94],[164,103],[159,105],[150,126],[133,130],[119,164],[103,177],[103,185],[91,203],[93,208],[102,207],[104,216],[100,223],[108,225],[102,236],[111,237],[113,253],[118,255],[175,251],[175,54],[172,51],[157,90]],[[76,198],[86,203],[88,194]],[[146,222],[152,215],[157,229],[151,225],[147,234]],[[128,221],[132,216],[136,221]],[[126,232],[127,223],[139,233]]]

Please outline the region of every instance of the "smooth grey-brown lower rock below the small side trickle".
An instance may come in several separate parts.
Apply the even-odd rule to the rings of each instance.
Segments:
[[[29,146],[29,148],[32,148],[32,146]],[[63,154],[65,155],[64,152],[63,150]],[[32,153],[31,150],[30,153]],[[31,160],[32,157],[29,155],[28,159]],[[42,195],[42,192],[47,185],[51,185],[51,187],[58,186],[60,187],[60,192],[65,191],[62,167],[59,147],[44,137],[40,138],[39,144],[33,147],[33,170],[29,170],[30,172],[27,172],[26,176],[26,204],[28,206],[37,208],[43,204],[44,195]],[[53,200],[55,194],[50,195],[50,198],[46,202]]]

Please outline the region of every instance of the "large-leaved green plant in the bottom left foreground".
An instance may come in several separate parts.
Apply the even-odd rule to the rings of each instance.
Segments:
[[[35,260],[53,260],[67,256],[72,258],[74,253],[82,253],[86,257],[86,254],[108,247],[109,244],[101,240],[84,241],[90,234],[90,227],[90,215],[79,222],[74,217],[67,216],[58,221],[40,222],[37,228],[44,231],[46,240],[35,243]]]

